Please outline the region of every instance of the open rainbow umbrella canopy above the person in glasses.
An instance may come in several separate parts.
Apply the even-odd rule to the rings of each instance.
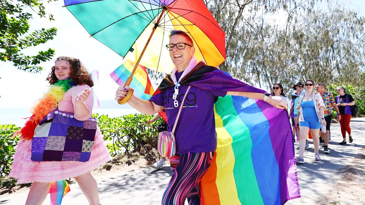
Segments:
[[[193,39],[198,61],[218,66],[226,58],[225,33],[202,0],[64,2],[93,38],[123,58],[134,60],[136,52],[140,56],[145,50],[139,64],[149,69],[165,73],[173,69],[165,47],[171,30],[182,30]],[[153,28],[154,34],[144,49]]]

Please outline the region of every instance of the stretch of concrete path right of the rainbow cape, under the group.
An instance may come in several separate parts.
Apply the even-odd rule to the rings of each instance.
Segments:
[[[301,198],[290,200],[285,205],[320,204],[318,201],[322,201],[328,194],[333,194],[331,191],[341,180],[342,175],[338,172],[348,166],[357,166],[354,159],[364,154],[365,150],[365,118],[351,119],[350,127],[353,143],[349,143],[348,135],[346,135],[347,144],[339,145],[339,142],[342,142],[340,124],[331,124],[331,142],[328,145],[330,154],[324,154],[323,149],[320,148],[321,161],[314,160],[314,146],[310,140],[309,148],[304,152],[305,164],[297,164]],[[299,142],[295,143],[295,148],[297,146]],[[299,150],[295,150],[295,154],[298,156]],[[362,159],[362,165],[365,165],[364,159]],[[364,192],[362,195],[365,195]],[[349,201],[346,204],[364,205],[365,201]]]

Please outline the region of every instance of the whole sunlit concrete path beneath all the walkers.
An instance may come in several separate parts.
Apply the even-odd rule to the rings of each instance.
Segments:
[[[325,155],[323,150],[319,151],[322,161],[314,160],[314,148],[310,140],[310,148],[304,152],[304,165],[298,165],[298,178],[301,198],[290,200],[286,205],[298,204],[322,204],[318,203],[336,186],[341,179],[338,171],[349,165],[354,165],[354,159],[364,153],[364,130],[365,118],[351,120],[351,132],[354,138],[353,143],[344,146],[338,144],[342,141],[339,124],[331,125],[331,142],[328,146],[330,154]],[[295,143],[295,147],[298,146]],[[298,155],[299,150],[296,150]],[[365,160],[362,160],[364,163]],[[364,163],[365,164],[365,163]],[[100,199],[103,205],[126,204],[126,205],[158,205],[161,204],[161,197],[171,177],[168,163],[161,170],[154,170],[150,167],[138,168],[131,171],[97,176]],[[82,194],[77,183],[70,185],[71,192],[66,194],[62,205],[88,205],[85,196]],[[0,195],[0,205],[21,205],[27,198],[27,190],[16,192],[7,196]],[[360,194],[360,193],[358,193]],[[364,194],[364,193],[362,193]],[[49,204],[49,196],[43,205]],[[187,203],[185,203],[187,204]],[[364,204],[364,202],[349,201],[349,204]],[[341,204],[342,205],[342,204]]]

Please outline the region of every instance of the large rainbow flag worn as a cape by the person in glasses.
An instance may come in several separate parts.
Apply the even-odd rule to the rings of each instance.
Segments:
[[[180,82],[206,90],[266,93],[219,69],[198,65]],[[173,86],[170,74],[156,94]],[[200,183],[201,205],[281,205],[299,198],[288,113],[240,96],[215,102],[217,149]]]

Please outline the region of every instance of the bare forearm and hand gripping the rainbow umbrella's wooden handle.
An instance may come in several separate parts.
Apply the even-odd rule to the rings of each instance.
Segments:
[[[114,99],[118,100],[122,97],[126,97],[129,89],[129,86],[125,86],[124,88],[119,87],[118,90],[116,90],[116,97]],[[164,109],[163,106],[156,105],[149,100],[142,100],[134,95],[128,100],[127,103],[130,104],[133,108],[137,109],[139,112],[146,115],[153,115]]]

